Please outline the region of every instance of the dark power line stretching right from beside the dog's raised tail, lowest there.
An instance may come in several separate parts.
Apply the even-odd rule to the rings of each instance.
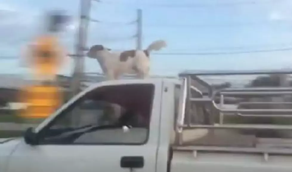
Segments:
[[[153,53],[157,55],[224,55],[224,54],[251,54],[263,52],[276,52],[276,51],[292,51],[292,47],[283,49],[267,49],[267,50],[253,50],[253,51],[234,51],[234,52],[192,52],[192,53]]]

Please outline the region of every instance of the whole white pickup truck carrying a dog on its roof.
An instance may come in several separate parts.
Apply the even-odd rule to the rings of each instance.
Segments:
[[[279,142],[234,131],[248,125],[204,120],[200,124],[185,124],[190,111],[186,108],[191,98],[188,89],[186,77],[126,79],[92,85],[38,127],[27,129],[24,137],[1,139],[0,171],[292,171],[289,139]],[[222,116],[223,110],[212,99],[192,100],[197,105],[208,105],[205,113],[215,113],[212,109],[216,109]],[[120,106],[120,114],[110,114],[109,104]],[[265,127],[278,126],[253,126]]]

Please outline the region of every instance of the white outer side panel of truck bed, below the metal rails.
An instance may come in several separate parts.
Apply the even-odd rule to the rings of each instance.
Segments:
[[[273,154],[198,152],[174,150],[170,171],[217,172],[291,172],[292,157]]]

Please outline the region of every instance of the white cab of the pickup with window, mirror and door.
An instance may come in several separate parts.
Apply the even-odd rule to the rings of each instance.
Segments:
[[[1,171],[166,171],[180,84],[145,79],[92,85],[24,138],[3,141]],[[104,118],[112,115],[109,104],[123,109],[112,120]]]

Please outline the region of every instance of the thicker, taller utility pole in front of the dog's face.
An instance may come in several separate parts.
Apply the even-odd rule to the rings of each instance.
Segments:
[[[84,72],[84,50],[87,40],[91,0],[80,0],[80,22],[75,47],[75,66],[72,74],[71,97],[80,91],[81,79]]]

